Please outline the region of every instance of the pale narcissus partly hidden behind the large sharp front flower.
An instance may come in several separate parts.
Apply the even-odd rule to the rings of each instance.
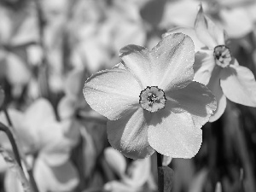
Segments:
[[[253,73],[238,64],[225,45],[224,30],[203,13],[195,20],[195,28],[179,27],[166,33],[183,32],[195,43],[195,81],[206,84],[216,96],[218,108],[210,121],[220,118],[226,108],[226,98],[241,105],[256,107],[256,82]]]

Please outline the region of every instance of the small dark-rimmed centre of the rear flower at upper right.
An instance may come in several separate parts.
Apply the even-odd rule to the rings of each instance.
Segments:
[[[218,45],[214,48],[213,55],[219,67],[228,67],[231,61],[230,49],[225,45]]]

